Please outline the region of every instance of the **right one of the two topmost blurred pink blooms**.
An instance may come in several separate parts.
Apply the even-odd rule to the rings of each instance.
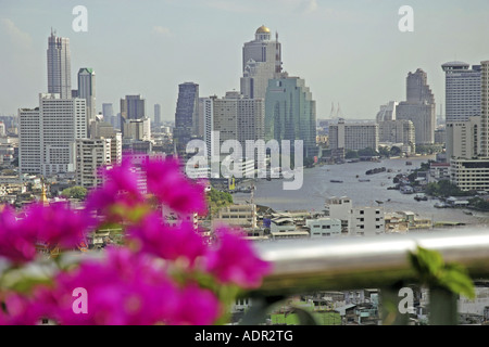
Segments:
[[[206,213],[204,187],[185,177],[176,158],[145,164],[148,191],[177,213]]]

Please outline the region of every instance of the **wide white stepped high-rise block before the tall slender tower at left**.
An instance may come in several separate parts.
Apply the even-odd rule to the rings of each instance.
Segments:
[[[41,93],[39,107],[20,110],[18,117],[21,174],[75,171],[75,140],[87,138],[84,99]]]

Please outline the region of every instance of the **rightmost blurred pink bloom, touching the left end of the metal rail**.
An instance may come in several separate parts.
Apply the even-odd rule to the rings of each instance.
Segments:
[[[217,230],[217,246],[205,257],[205,268],[223,283],[235,283],[243,288],[261,285],[272,271],[269,262],[260,259],[251,242],[225,228]]]

